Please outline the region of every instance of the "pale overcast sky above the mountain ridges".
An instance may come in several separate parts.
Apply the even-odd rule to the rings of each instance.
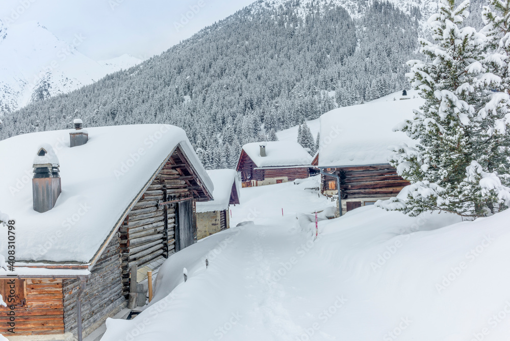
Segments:
[[[254,0],[0,0],[0,19],[37,20],[94,60],[160,54]],[[188,16],[190,19],[186,18]],[[188,21],[188,22],[187,22]]]

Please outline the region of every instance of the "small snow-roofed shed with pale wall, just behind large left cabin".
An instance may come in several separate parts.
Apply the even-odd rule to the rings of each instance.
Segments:
[[[214,186],[214,200],[196,204],[198,239],[230,228],[230,205],[240,203],[240,181],[234,169],[207,171]]]

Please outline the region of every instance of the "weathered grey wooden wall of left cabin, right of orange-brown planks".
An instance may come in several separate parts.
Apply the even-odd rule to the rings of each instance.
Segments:
[[[77,334],[76,298],[80,286],[79,279],[63,281],[65,331],[73,334]],[[124,302],[117,233],[92,269],[82,294],[83,336],[92,332],[97,324],[116,312]]]

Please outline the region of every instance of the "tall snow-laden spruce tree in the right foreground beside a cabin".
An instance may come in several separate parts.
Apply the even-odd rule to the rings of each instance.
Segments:
[[[419,40],[428,58],[408,63],[407,76],[426,102],[396,128],[416,143],[395,151],[390,163],[411,186],[405,200],[379,202],[381,207],[479,217],[510,202],[508,148],[497,137],[508,128],[501,120],[508,95],[491,91],[500,82],[488,69],[493,49],[484,34],[462,27],[468,7],[469,1],[455,7],[453,0],[440,0],[439,13],[428,20],[432,41]]]

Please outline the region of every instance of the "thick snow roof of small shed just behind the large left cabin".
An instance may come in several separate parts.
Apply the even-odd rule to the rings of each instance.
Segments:
[[[207,171],[214,184],[213,200],[196,203],[197,213],[223,211],[228,209],[232,190],[235,188],[236,195],[240,196],[240,181],[234,169],[214,169]],[[233,187],[234,186],[234,187]]]

